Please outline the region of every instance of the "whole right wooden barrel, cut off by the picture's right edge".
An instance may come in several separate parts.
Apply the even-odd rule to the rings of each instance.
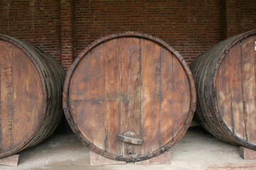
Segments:
[[[256,30],[223,40],[191,63],[196,118],[220,140],[256,149]]]

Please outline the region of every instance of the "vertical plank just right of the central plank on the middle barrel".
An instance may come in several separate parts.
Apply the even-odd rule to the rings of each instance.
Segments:
[[[142,126],[141,134],[145,141],[142,154],[149,154],[159,146],[159,111],[160,111],[160,45],[142,40]]]

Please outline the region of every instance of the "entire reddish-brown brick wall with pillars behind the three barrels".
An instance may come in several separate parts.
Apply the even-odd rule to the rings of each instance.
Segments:
[[[149,33],[190,63],[220,40],[252,29],[255,0],[0,1],[0,33],[40,46],[66,70],[81,50],[110,33]]]

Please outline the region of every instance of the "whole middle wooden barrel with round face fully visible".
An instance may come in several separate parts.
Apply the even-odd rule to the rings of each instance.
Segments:
[[[151,35],[125,32],[80,53],[65,79],[63,107],[84,145],[110,159],[137,162],[183,137],[196,91],[174,48]]]

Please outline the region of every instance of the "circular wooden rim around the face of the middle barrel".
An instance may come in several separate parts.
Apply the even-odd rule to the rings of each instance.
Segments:
[[[68,91],[69,91],[70,81],[71,81],[73,72],[75,71],[75,68],[78,66],[80,60],[82,60],[82,58],[87,54],[87,52],[90,52],[90,50],[92,50],[97,45],[100,45],[101,43],[103,43],[107,40],[112,40],[114,38],[124,38],[124,37],[145,38],[147,40],[151,40],[153,42],[158,43],[159,45],[164,46],[167,50],[169,50],[169,52],[173,53],[176,56],[176,58],[178,59],[178,62],[180,62],[181,66],[183,67],[184,71],[186,72],[186,75],[187,75],[188,81],[189,81],[189,85],[190,85],[190,89],[191,89],[190,109],[188,111],[188,116],[186,118],[185,125],[183,126],[183,128],[181,129],[179,134],[174,138],[174,140],[172,140],[168,144],[164,145],[164,147],[161,147],[160,149],[157,149],[155,152],[151,152],[150,154],[147,154],[147,155],[142,155],[141,157],[135,157],[133,159],[132,158],[128,159],[128,158],[124,158],[124,157],[119,156],[119,155],[116,156],[114,154],[110,154],[108,152],[105,152],[102,149],[97,148],[95,145],[93,145],[91,142],[89,142],[82,135],[82,133],[78,130],[78,128],[76,128],[76,125],[73,121],[73,116],[71,115],[70,110],[69,110],[70,106],[69,106],[69,103],[68,103],[68,96],[69,96]],[[191,73],[191,71],[188,67],[188,64],[186,64],[185,60],[183,60],[181,55],[176,50],[174,50],[173,47],[168,45],[163,40],[161,40],[159,38],[154,38],[151,35],[129,31],[129,32],[124,32],[124,33],[117,33],[117,34],[107,35],[103,38],[100,38],[100,39],[96,40],[95,42],[92,42],[91,45],[86,47],[85,50],[83,50],[80,53],[80,55],[78,55],[78,57],[73,62],[72,66],[70,67],[70,69],[67,73],[67,77],[65,79],[64,90],[63,90],[63,109],[64,109],[64,113],[65,113],[65,118],[68,120],[70,128],[73,130],[73,132],[78,137],[80,142],[82,142],[83,145],[89,147],[92,151],[96,152],[97,154],[100,154],[100,155],[102,155],[104,157],[107,157],[107,158],[110,158],[110,159],[115,159],[115,160],[118,160],[118,161],[126,161],[126,162],[138,162],[138,161],[142,161],[142,160],[150,159],[152,157],[159,156],[159,154],[168,150],[170,147],[172,147],[174,144],[176,144],[176,142],[178,142],[178,140],[180,140],[181,137],[183,137],[183,135],[185,135],[185,133],[188,130],[188,127],[191,123],[191,120],[193,118],[193,112],[196,110],[196,89],[195,89],[195,85],[194,85],[194,81],[193,81],[193,76],[192,76],[192,73]]]

